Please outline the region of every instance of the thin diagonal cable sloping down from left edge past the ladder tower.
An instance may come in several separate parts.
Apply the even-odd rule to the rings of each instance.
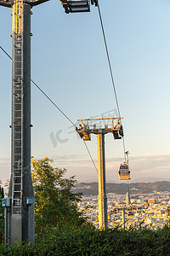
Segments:
[[[2,46],[0,46],[0,49],[2,49],[3,52],[4,52],[4,53],[8,56],[8,58],[12,61],[12,57],[11,57],[10,55],[8,55],[8,53],[6,52],[6,50],[3,49]],[[48,101],[51,102],[51,103],[54,105],[54,107],[57,108],[57,109],[59,110],[59,112],[62,113],[62,114],[65,116],[65,118],[68,119],[68,120],[71,122],[71,124],[74,125],[74,126],[77,128],[77,125],[75,125],[75,124],[71,121],[71,119],[70,119],[70,118],[69,118],[69,117],[68,117],[51,99],[50,99],[50,97],[49,97],[32,79],[31,79],[31,82],[32,82],[32,84],[34,84],[34,85],[37,87],[38,90],[40,90],[40,91],[42,92],[42,94],[43,94],[44,96],[46,96],[46,97],[48,98]],[[88,149],[88,146],[87,146],[87,144],[86,144],[85,142],[84,142],[84,145],[85,145],[85,147],[86,147],[86,149],[87,149],[87,151],[88,151],[88,154],[89,154],[90,159],[92,160],[92,163],[93,163],[93,165],[94,165],[95,170],[98,172],[98,169],[97,169],[97,167],[95,166],[95,163],[94,163],[92,154],[90,154],[89,149]]]

